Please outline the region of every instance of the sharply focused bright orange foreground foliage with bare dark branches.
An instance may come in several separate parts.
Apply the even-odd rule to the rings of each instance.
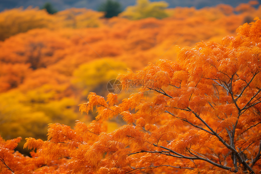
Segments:
[[[261,20],[221,43],[178,49],[178,63],[160,59],[120,74],[141,91],[118,103],[96,93],[80,105],[96,120],[75,129],[49,124],[47,141],[27,138],[32,157],[14,152],[21,138],[0,139],[2,173],[257,173],[261,169]],[[106,133],[106,120],[122,117]]]

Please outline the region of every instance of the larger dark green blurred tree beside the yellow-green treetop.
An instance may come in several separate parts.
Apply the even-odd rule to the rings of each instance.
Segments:
[[[107,0],[100,5],[98,11],[105,12],[106,18],[112,18],[122,12],[121,5],[117,1]]]

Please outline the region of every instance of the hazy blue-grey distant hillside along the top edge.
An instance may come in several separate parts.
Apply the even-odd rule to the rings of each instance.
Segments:
[[[46,2],[51,2],[53,6],[57,10],[64,10],[71,7],[76,8],[87,8],[87,9],[94,9],[97,10],[99,5],[103,3],[106,0],[1,0],[0,1],[0,11],[3,11],[4,9],[12,9],[12,8],[18,8],[18,7],[24,7],[27,8],[28,6],[32,7],[42,7],[42,5]],[[136,0],[118,0],[122,8],[125,9],[129,5],[134,5]],[[157,0],[151,0],[151,1],[157,1]],[[216,1],[209,1],[209,0],[165,0],[169,3],[169,8],[174,8],[176,6],[181,7],[196,7],[197,9],[206,7],[206,6],[214,6],[217,4],[229,4],[233,7],[236,7],[240,3],[247,3],[247,0],[216,0]],[[261,0],[259,0],[259,3],[261,3]]]

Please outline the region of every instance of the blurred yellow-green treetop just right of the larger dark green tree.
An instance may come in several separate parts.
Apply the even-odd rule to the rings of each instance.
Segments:
[[[149,0],[137,0],[137,5],[127,7],[126,11],[122,12],[120,16],[132,20],[148,17],[162,19],[168,17],[168,13],[165,11],[167,7],[168,3],[164,1],[150,2]]]

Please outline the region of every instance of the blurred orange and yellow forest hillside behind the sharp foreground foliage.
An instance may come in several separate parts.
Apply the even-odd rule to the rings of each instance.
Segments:
[[[34,8],[40,2],[42,9]],[[83,3],[81,0],[60,0],[52,4],[1,1],[2,9],[32,5],[0,13],[0,135],[3,138],[21,136],[23,141],[26,137],[44,140],[49,123],[73,126],[75,120],[80,120],[88,124],[95,115],[81,115],[77,105],[86,102],[91,91],[107,96],[107,83],[117,73],[126,72],[127,67],[140,70],[158,59],[175,60],[178,49],[175,45],[194,46],[208,40],[219,43],[225,36],[235,36],[239,25],[261,16],[258,1],[241,4],[231,1],[237,5],[196,9],[169,8],[178,1],[168,4],[138,0],[125,10],[127,1],[119,1],[122,9],[114,1],[90,2],[95,4],[79,5]],[[190,1],[182,2],[188,5]],[[196,2],[195,6],[201,7],[203,1],[193,1]],[[71,6],[96,9],[97,3],[100,3],[99,11],[65,9]],[[108,8],[108,4],[113,8],[110,5]],[[118,97],[120,101],[126,94],[121,92]],[[108,131],[114,130],[117,120],[108,125]]]

